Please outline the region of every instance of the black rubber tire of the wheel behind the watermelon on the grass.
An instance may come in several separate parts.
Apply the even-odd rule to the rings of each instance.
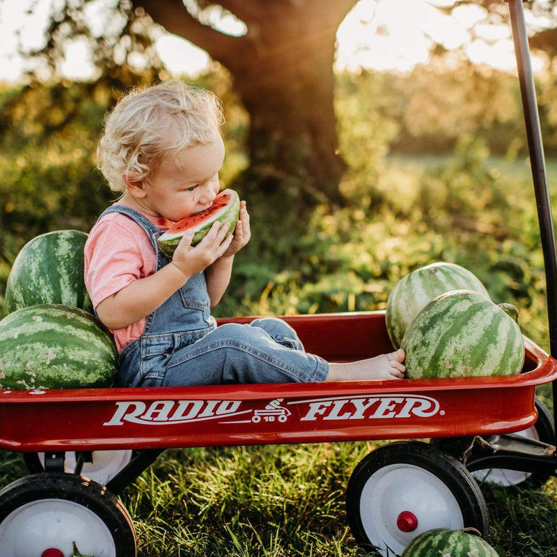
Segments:
[[[360,499],[368,479],[391,464],[409,464],[437,476],[455,496],[462,512],[464,528],[476,528],[485,538],[489,533],[487,503],[462,462],[422,441],[396,441],[380,446],[363,457],[350,476],[346,490],[346,513],[352,535],[364,551],[379,555],[363,528]],[[443,527],[441,524],[439,527]]]

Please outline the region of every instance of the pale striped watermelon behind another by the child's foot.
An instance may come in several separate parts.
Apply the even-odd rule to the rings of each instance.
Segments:
[[[414,317],[435,297],[450,290],[473,290],[487,297],[480,279],[454,263],[437,262],[401,278],[387,299],[386,327],[395,348]]]

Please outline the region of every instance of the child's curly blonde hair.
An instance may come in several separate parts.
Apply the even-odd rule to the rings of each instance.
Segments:
[[[148,180],[162,159],[212,143],[224,122],[221,101],[210,91],[173,79],[136,88],[104,119],[97,167],[112,191],[130,178]]]

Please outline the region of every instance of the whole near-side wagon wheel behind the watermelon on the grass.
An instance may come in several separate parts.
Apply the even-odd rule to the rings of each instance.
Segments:
[[[346,510],[356,542],[384,557],[401,554],[432,528],[487,533],[487,505],[469,471],[418,441],[384,445],[364,457],[348,482]]]

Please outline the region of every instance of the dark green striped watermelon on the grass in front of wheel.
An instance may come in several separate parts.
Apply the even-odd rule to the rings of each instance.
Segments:
[[[400,557],[499,557],[478,535],[462,530],[434,528],[416,536]]]

